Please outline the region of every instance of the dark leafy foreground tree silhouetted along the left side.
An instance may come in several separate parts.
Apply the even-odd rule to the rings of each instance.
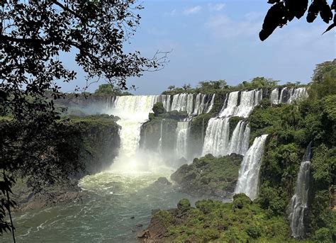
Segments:
[[[73,70],[62,63],[61,52],[74,53],[75,61],[86,72],[87,88],[104,79],[119,89],[128,89],[126,79],[139,77],[144,71],[164,67],[167,53],[157,52],[148,59],[140,52],[125,53],[123,43],[129,42],[140,23],[137,13],[142,6],[135,0],[116,1],[1,1],[0,27],[0,108],[11,116],[11,128],[23,126],[24,134],[37,142],[35,149],[9,157],[7,152],[16,145],[20,134],[2,139],[0,146],[0,234],[13,232],[13,224],[5,222],[13,177],[11,173],[25,166],[27,157],[38,154],[45,140],[35,137],[41,129],[56,125],[59,118],[52,98],[64,96],[59,84],[76,78]],[[79,90],[79,87],[76,88]],[[49,134],[49,133],[48,133]],[[52,134],[52,133],[50,133]],[[6,137],[6,136],[5,136]],[[51,140],[52,141],[52,140]],[[41,145],[41,146],[40,146]],[[26,149],[26,147],[21,147]],[[23,151],[22,150],[22,151]],[[22,156],[22,157],[20,157]],[[35,159],[39,166],[56,161]],[[56,164],[55,164],[56,163]],[[36,168],[36,164],[30,164]]]

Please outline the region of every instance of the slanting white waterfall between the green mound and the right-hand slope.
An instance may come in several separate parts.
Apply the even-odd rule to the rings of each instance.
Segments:
[[[264,154],[264,145],[267,135],[254,139],[253,145],[247,150],[240,166],[235,193],[245,193],[251,200],[257,198],[259,170]]]

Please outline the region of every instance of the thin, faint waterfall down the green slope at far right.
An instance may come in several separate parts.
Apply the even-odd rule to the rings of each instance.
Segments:
[[[291,235],[295,238],[301,238],[305,235],[304,217],[308,209],[308,191],[310,181],[310,147],[311,142],[306,149],[306,154],[301,162],[296,180],[296,188],[291,203],[289,203],[289,224],[291,226]]]

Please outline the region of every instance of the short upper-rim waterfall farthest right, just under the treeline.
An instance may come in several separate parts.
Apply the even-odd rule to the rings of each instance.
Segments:
[[[271,103],[293,103],[300,98],[307,98],[308,93],[306,88],[276,88],[271,91],[269,97]]]

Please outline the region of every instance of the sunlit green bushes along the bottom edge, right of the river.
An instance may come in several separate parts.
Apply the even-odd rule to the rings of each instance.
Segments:
[[[200,200],[196,208],[160,210],[153,218],[166,227],[168,242],[296,242],[283,217],[269,217],[245,194],[235,195],[233,203]]]

